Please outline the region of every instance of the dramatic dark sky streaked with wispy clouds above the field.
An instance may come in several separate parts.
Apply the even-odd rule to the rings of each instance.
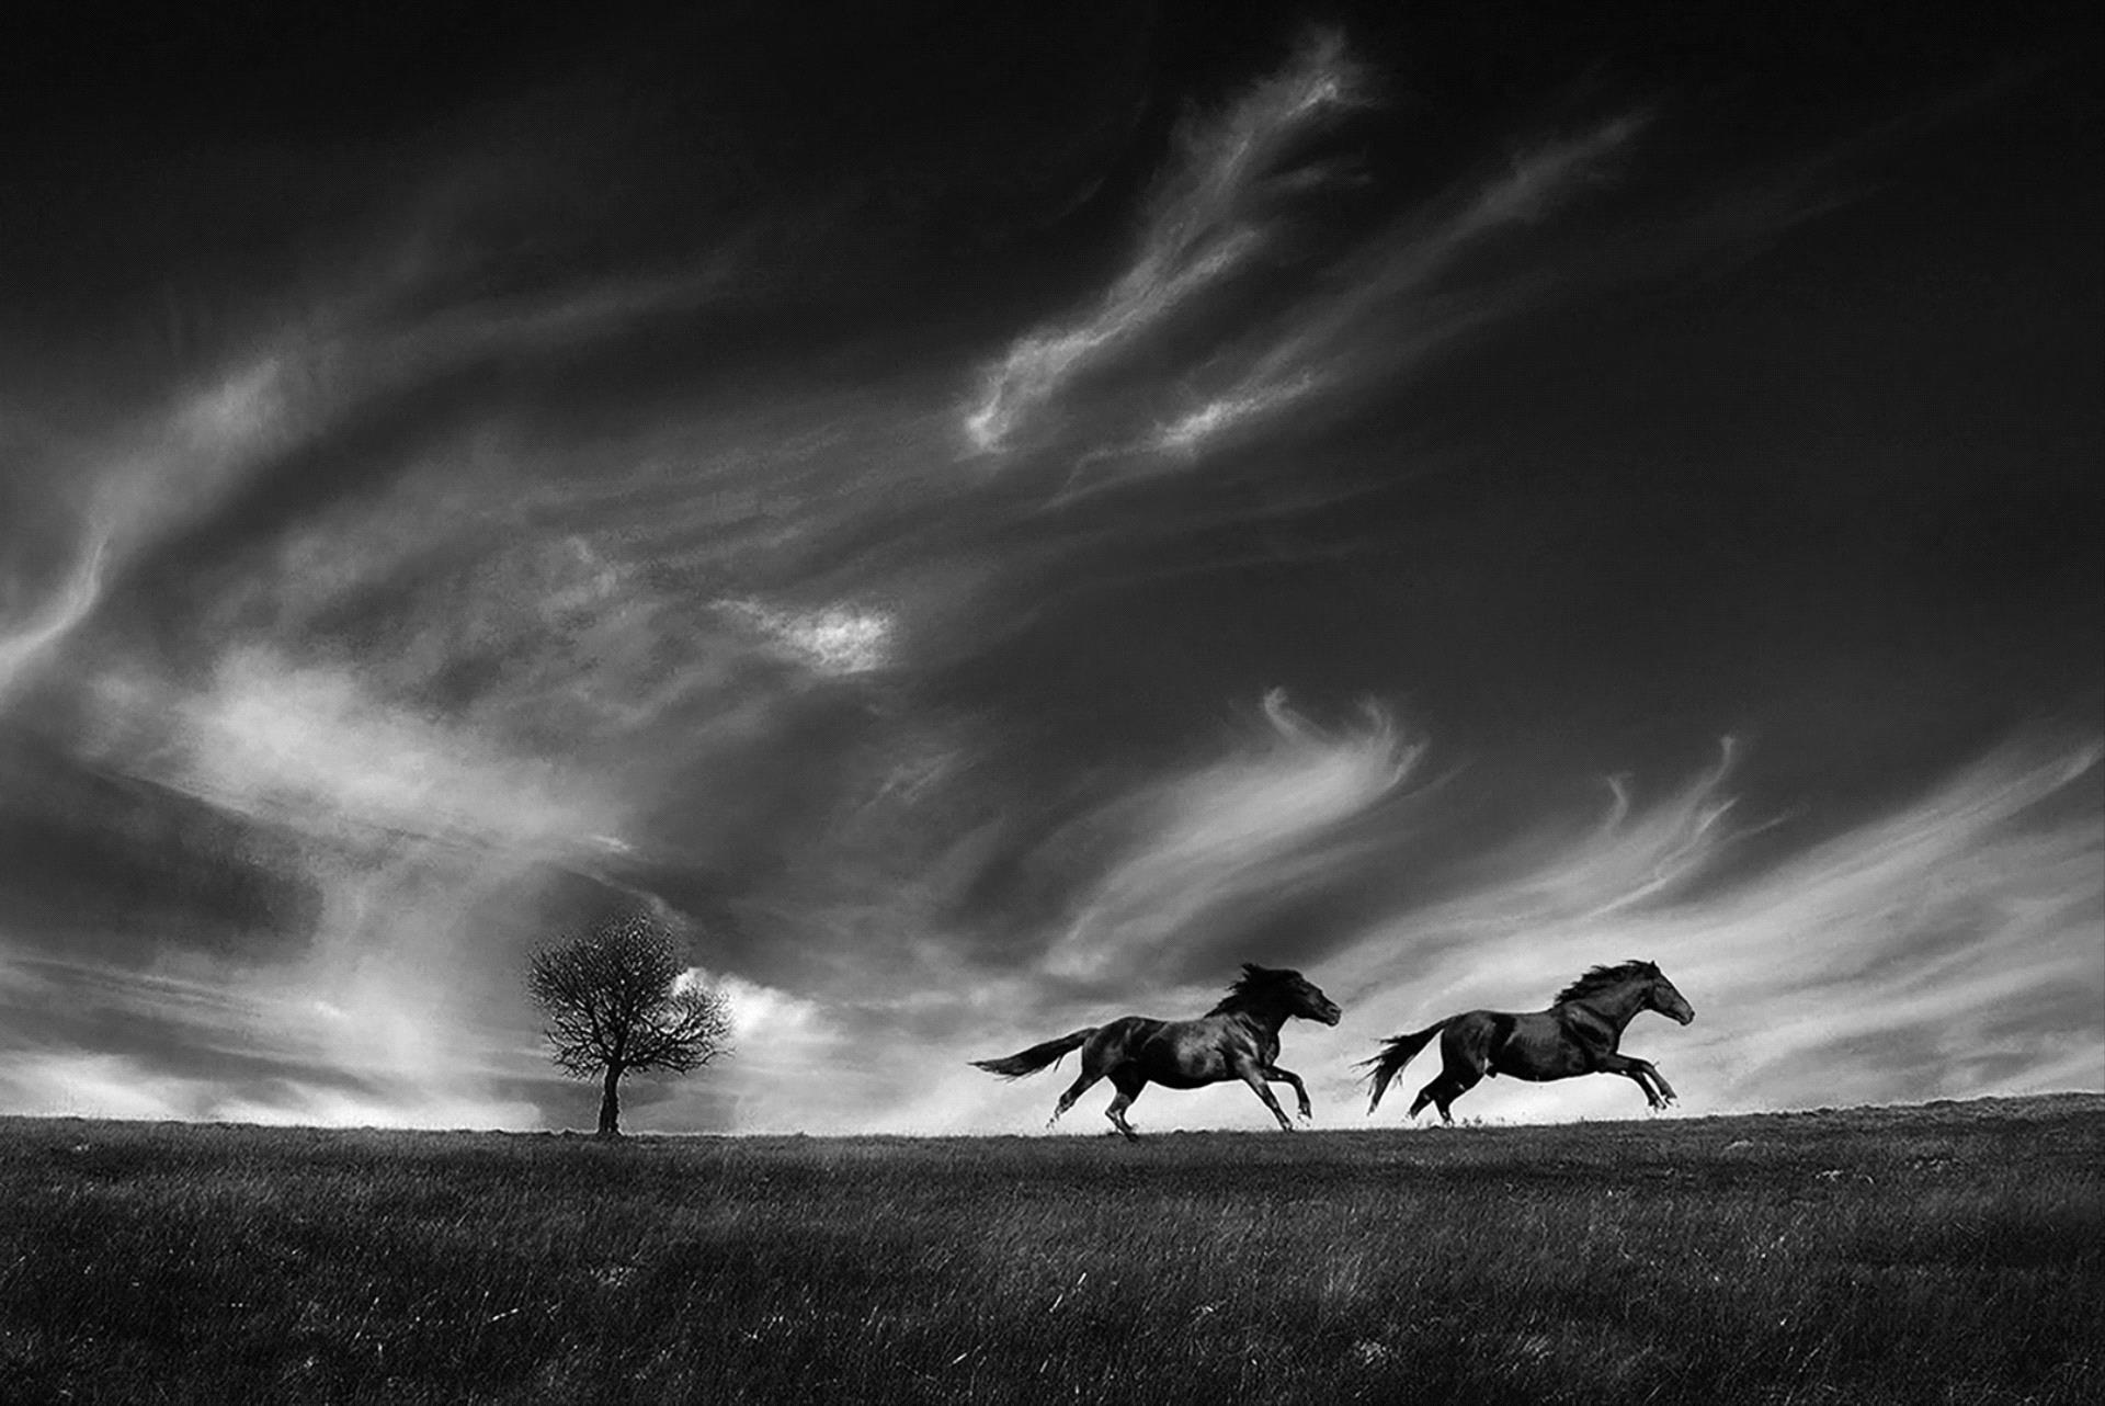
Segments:
[[[634,1130],[2105,1090],[2082,6],[189,8],[0,21],[0,1113],[589,1126],[636,909]]]

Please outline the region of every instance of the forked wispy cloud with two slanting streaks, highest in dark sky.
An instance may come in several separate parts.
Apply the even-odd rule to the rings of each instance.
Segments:
[[[1187,137],[1147,213],[1124,272],[1082,318],[1038,328],[983,375],[964,410],[964,431],[981,453],[1015,448],[1031,421],[1050,434],[1061,398],[1135,343],[1166,328],[1175,314],[1229,295],[1236,274],[1284,236],[1290,198],[1320,189],[1332,173],[1305,154],[1307,137],[1335,116],[1364,107],[1366,74],[1339,36],[1307,42],[1278,76],[1252,86],[1212,122]],[[1585,189],[1602,185],[1644,128],[1638,116],[1600,122],[1577,137],[1547,139],[1518,152],[1486,181],[1463,185],[1364,238],[1356,248],[1301,261],[1318,269],[1288,276],[1299,288],[1284,309],[1259,314],[1250,301],[1215,333],[1185,333],[1196,345],[1141,402],[1183,402],[1135,438],[1101,436],[1080,455],[1124,461],[1124,474],[1154,471],[1151,455],[1191,459],[1198,450],[1248,431],[1324,391],[1394,377],[1455,337],[1511,316],[1545,284],[1556,265],[1461,274],[1459,265],[1497,236],[1537,225]],[[1530,250],[1535,259],[1543,250]],[[1103,406],[1092,408],[1097,421]],[[1120,474],[1111,476],[1114,480]]]

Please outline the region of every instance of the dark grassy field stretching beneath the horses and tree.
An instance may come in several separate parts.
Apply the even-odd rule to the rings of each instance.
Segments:
[[[2094,1402],[2105,1099],[634,1139],[0,1120],[0,1400]]]

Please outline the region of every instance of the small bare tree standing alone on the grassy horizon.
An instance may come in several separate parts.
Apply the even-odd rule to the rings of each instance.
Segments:
[[[543,947],[526,991],[547,1017],[556,1065],[600,1078],[600,1137],[621,1137],[621,1076],[686,1073],[726,1052],[730,1000],[682,981],[680,949],[663,924],[629,913]]]

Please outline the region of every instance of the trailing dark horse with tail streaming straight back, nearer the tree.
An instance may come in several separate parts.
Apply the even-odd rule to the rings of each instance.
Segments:
[[[1126,1122],[1126,1109],[1141,1097],[1149,1082],[1166,1088],[1200,1088],[1225,1080],[1242,1080],[1265,1101],[1282,1128],[1292,1130],[1280,1101],[1271,1097],[1269,1082],[1292,1084],[1301,1099],[1301,1116],[1311,1118],[1309,1090],[1292,1069],[1280,1069],[1280,1025],[1286,1017],[1303,1017],[1337,1025],[1337,1004],[1316,989],[1301,972],[1242,964],[1242,977],[1227,989],[1212,1010],[1196,1021],[1149,1021],[1143,1015],[1126,1015],[1109,1025],[1090,1025],[1059,1040],[1034,1044],[1008,1059],[975,1059],[973,1065],[1004,1080],[1019,1080],[1025,1073],[1059,1063],[1074,1048],[1082,1050],[1082,1071],[1067,1092],[1052,1107],[1050,1128],[1059,1116],[1074,1107],[1074,1101],[1101,1078],[1109,1078],[1118,1097],[1103,1111],[1111,1126],[1130,1139],[1139,1139]]]

